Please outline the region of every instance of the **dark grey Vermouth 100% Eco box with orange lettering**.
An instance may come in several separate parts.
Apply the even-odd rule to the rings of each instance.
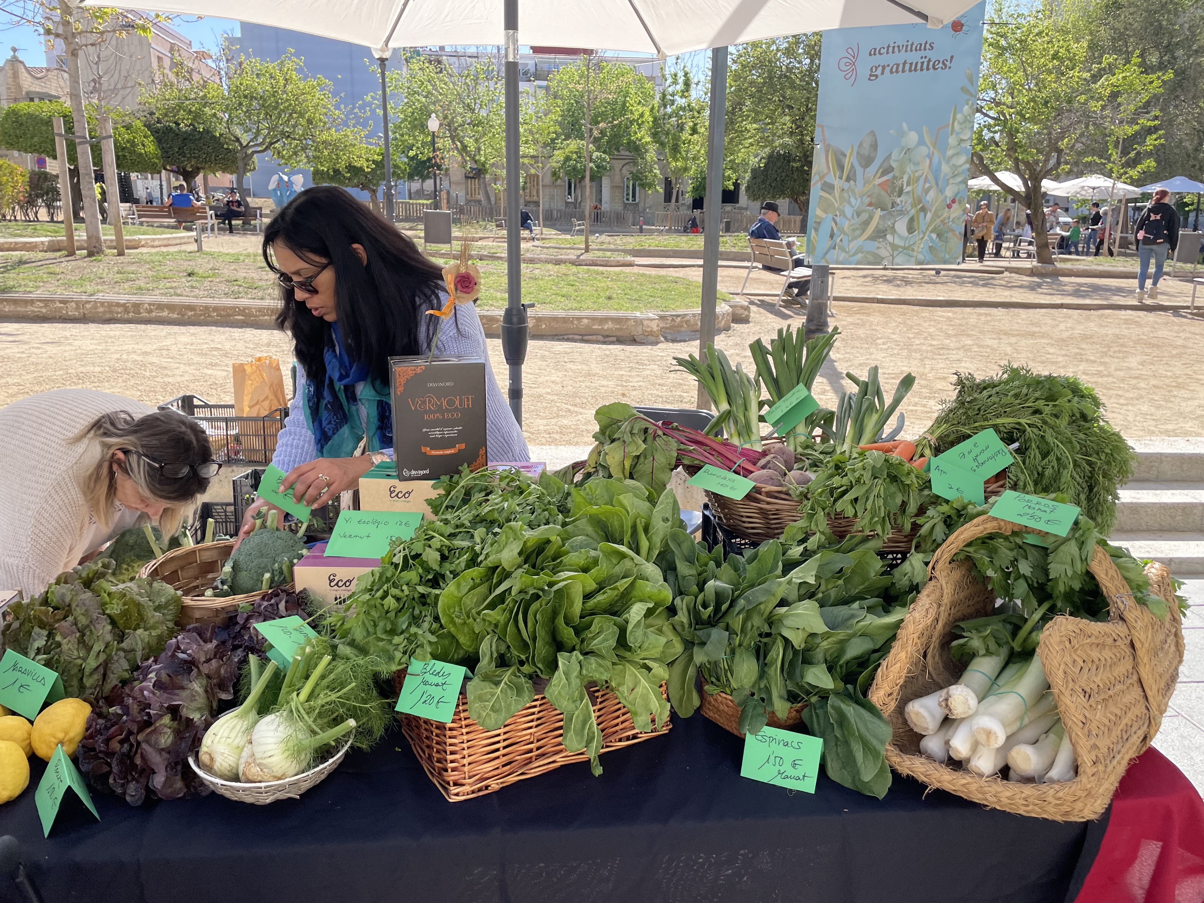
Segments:
[[[485,466],[483,360],[390,358],[389,372],[400,479],[437,479],[462,465]]]

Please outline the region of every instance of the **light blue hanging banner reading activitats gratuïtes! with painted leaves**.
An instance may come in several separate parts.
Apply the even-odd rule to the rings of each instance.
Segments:
[[[979,4],[923,24],[824,35],[807,253],[815,262],[961,260]]]

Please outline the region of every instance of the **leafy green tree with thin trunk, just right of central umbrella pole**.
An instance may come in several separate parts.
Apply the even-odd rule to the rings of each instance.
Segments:
[[[580,142],[584,158],[582,182],[586,189],[584,209],[592,201],[592,179],[597,175],[595,154],[610,158],[626,150],[636,158],[632,178],[645,190],[656,187],[653,119],[656,89],[628,65],[582,57],[548,79],[549,112],[556,120],[567,147]],[[566,152],[567,153],[567,152]],[[565,164],[568,158],[562,157]],[[572,178],[572,176],[569,176]],[[590,218],[585,217],[585,250],[590,249]]]

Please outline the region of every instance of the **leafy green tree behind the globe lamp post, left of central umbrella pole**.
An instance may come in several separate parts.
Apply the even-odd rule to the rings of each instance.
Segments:
[[[389,73],[395,146],[413,159],[411,178],[421,178],[421,163],[431,160],[431,132],[426,120],[439,120],[438,171],[458,160],[480,178],[485,201],[494,203],[494,176],[506,154],[506,112],[502,79],[490,61],[477,61],[462,72],[443,60],[417,57],[403,72]]]

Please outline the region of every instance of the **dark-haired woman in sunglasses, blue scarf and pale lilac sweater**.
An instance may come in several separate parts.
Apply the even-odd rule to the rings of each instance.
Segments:
[[[442,268],[383,217],[334,185],[309,188],[264,230],[264,261],[281,284],[277,324],[293,336],[297,384],[272,464],[281,489],[324,504],[355,489],[393,456],[389,358],[427,354],[447,301]],[[489,364],[472,305],[459,305],[435,354],[485,361],[486,444],[491,461],[526,461],[523,431]],[[367,454],[356,454],[359,450]],[[256,501],[241,536],[252,529]]]

